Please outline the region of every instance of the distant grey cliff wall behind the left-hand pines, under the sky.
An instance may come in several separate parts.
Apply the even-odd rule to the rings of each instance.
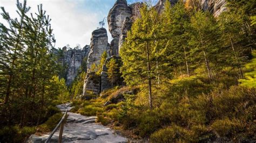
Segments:
[[[66,84],[71,85],[78,74],[78,69],[90,52],[90,46],[86,45],[83,49],[63,47],[62,49],[52,49],[58,59],[57,62],[62,65],[63,71],[59,77],[65,78]]]

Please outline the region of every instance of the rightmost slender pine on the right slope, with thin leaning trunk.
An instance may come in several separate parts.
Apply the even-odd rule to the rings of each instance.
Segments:
[[[228,50],[224,49],[224,61],[230,61],[230,63],[225,64],[231,64],[232,67],[238,68],[239,76],[243,78],[242,63],[246,60],[243,54],[246,51],[246,46],[244,45],[245,35],[241,29],[242,19],[233,12],[224,12],[221,13],[218,23],[222,32],[221,40],[223,41],[223,46],[230,47]],[[227,54],[231,54],[228,60],[226,59]]]

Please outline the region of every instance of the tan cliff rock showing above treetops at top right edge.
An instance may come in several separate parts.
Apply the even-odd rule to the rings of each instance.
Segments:
[[[178,2],[178,0],[169,0],[171,5],[174,5]],[[184,0],[184,2],[188,2],[191,0]],[[162,12],[164,9],[164,3],[166,0],[159,0],[155,5],[155,8],[158,12]],[[226,10],[226,1],[225,0],[199,0],[199,6],[201,10],[210,11],[215,17],[218,17],[221,12]]]

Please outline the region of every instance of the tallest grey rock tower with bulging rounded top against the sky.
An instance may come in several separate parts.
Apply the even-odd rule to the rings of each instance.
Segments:
[[[131,9],[127,5],[126,0],[117,0],[113,8],[110,9],[107,16],[107,22],[109,23],[109,31],[114,38],[111,41],[112,55],[119,55],[118,51],[119,36],[122,34],[122,26],[126,17],[131,17]]]

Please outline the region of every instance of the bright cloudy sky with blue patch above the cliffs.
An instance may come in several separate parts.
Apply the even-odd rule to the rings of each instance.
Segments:
[[[23,2],[23,0],[19,0]],[[127,0],[127,3],[139,0]],[[31,7],[29,13],[37,11],[37,5],[43,4],[46,15],[49,15],[51,27],[56,39],[56,48],[70,45],[81,47],[90,45],[91,33],[99,27],[99,22],[107,17],[116,0],[27,0]],[[17,17],[16,0],[0,0],[0,6],[9,12],[12,18]],[[2,13],[2,10],[0,10]],[[6,25],[2,16],[0,23]],[[104,26],[109,30],[107,22]],[[112,37],[108,32],[109,42]]]

